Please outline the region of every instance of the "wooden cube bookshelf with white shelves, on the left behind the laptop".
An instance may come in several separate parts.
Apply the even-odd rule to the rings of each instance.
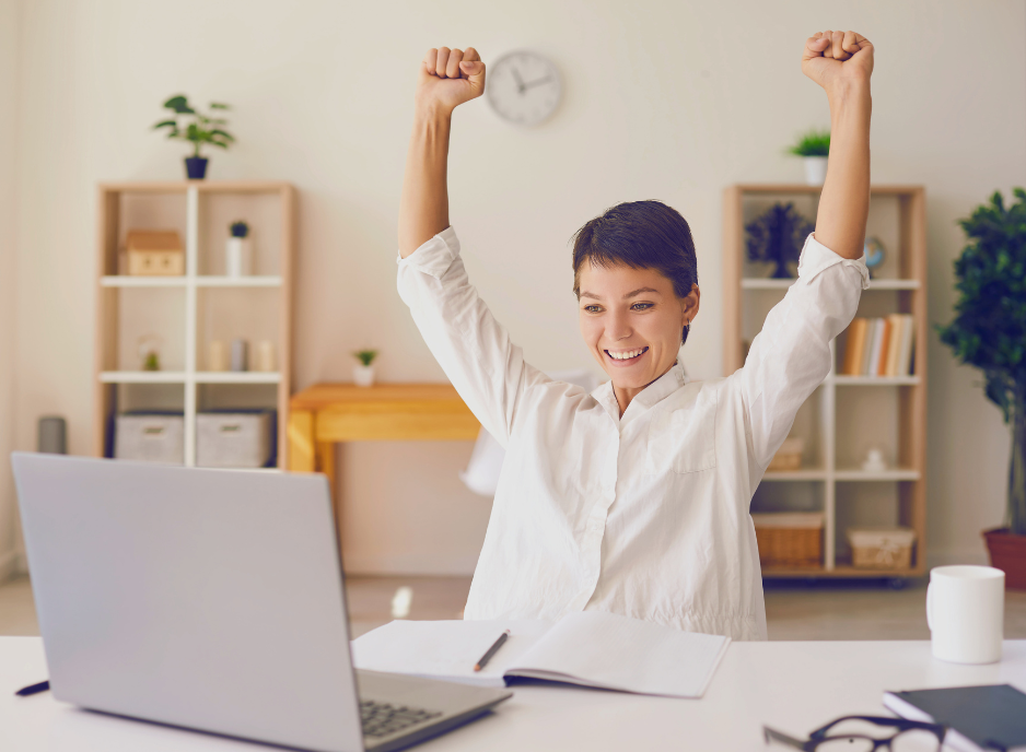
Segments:
[[[295,189],[273,180],[104,183],[98,186],[94,454],[109,456],[113,418],[128,410],[180,412],[187,467],[196,463],[196,414],[277,411],[277,467],[288,467]],[[224,275],[228,224],[253,232],[254,275]],[[128,277],[118,257],[128,230],[176,230],[185,274]],[[136,340],[163,340],[162,369],[140,371]],[[207,371],[207,344],[242,337],[276,345],[276,372]]]

